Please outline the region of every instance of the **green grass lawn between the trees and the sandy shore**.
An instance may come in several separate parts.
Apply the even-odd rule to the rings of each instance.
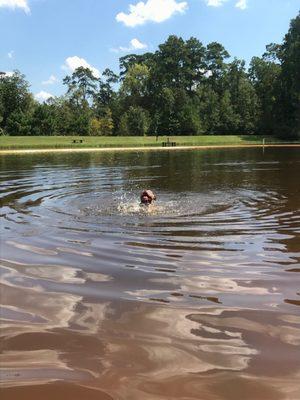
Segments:
[[[83,140],[83,143],[73,143],[73,140]],[[162,146],[166,136],[0,136],[0,150],[9,149],[53,149],[53,148],[84,148],[84,147],[143,147]],[[207,145],[243,145],[262,144],[263,136],[170,136],[171,142],[177,146],[207,146]],[[265,143],[286,143],[271,136],[265,137]]]

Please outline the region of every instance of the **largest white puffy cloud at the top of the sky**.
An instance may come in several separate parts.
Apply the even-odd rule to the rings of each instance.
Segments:
[[[129,13],[120,12],[116,16],[118,22],[123,22],[126,26],[134,27],[143,25],[148,21],[163,22],[173,14],[184,13],[188,4],[186,1],[178,0],[146,0],[137,4],[129,5]]]

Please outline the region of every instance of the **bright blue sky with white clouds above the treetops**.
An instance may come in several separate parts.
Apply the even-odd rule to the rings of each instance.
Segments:
[[[171,34],[222,43],[250,61],[281,43],[299,0],[0,0],[0,71],[19,69],[43,100],[79,65],[118,72],[119,57]]]

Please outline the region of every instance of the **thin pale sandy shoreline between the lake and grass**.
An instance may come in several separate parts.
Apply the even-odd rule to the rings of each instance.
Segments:
[[[35,153],[90,153],[90,152],[122,152],[122,151],[176,151],[176,150],[207,150],[207,149],[226,149],[226,148],[267,148],[267,147],[300,147],[300,143],[280,143],[280,144],[236,144],[236,145],[197,145],[197,146],[137,146],[137,147],[81,147],[81,148],[48,148],[48,149],[7,149],[0,150],[0,155],[9,154],[35,154]]]

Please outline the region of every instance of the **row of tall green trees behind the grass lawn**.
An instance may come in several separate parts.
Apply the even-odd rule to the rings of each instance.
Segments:
[[[66,93],[37,102],[24,75],[0,72],[0,134],[300,137],[300,13],[282,44],[245,62],[217,42],[170,36],[96,78],[79,67]]]

